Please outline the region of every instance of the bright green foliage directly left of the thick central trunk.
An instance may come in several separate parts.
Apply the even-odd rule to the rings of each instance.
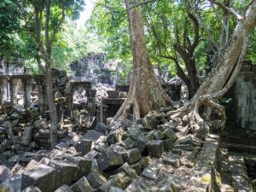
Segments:
[[[108,59],[119,59],[123,63],[121,77],[125,83],[131,70],[131,47],[127,15],[122,1],[99,0],[87,23],[88,30],[105,39],[104,52]]]

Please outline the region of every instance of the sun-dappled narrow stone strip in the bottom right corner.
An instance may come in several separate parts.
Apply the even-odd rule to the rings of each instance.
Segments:
[[[247,167],[242,156],[229,154],[230,172],[235,192],[253,191],[252,183],[247,175]]]

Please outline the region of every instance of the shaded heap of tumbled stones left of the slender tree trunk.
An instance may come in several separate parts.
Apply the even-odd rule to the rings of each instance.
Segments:
[[[58,131],[58,138],[65,139],[67,130]],[[0,163],[6,163],[16,154],[50,147],[49,122],[42,119],[37,109],[19,105],[5,109],[0,120]]]

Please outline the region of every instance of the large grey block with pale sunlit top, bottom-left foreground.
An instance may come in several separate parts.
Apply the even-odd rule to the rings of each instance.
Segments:
[[[39,165],[32,171],[21,175],[21,190],[29,186],[38,187],[42,192],[54,191],[55,169],[50,166]]]

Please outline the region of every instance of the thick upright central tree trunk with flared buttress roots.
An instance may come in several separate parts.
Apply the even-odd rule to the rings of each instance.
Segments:
[[[159,110],[171,102],[157,80],[151,65],[144,39],[143,16],[138,0],[125,0],[128,12],[131,50],[133,55],[133,73],[128,96],[113,119],[133,113],[134,119]]]

